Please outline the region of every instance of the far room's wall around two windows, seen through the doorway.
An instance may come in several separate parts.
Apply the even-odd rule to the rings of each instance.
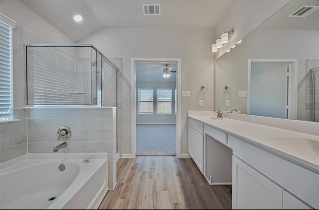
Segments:
[[[160,75],[161,76],[161,75]],[[136,93],[136,123],[137,124],[173,124],[176,123],[176,115],[175,115],[175,89],[176,89],[176,83],[175,82],[167,82],[165,83],[165,79],[163,79],[163,82],[137,82],[136,83],[136,90],[138,89],[171,89],[172,90],[172,113],[157,113],[156,107],[155,113],[147,113],[147,114],[138,114],[138,92]],[[156,94],[156,91],[153,92]],[[156,99],[154,95],[154,100]],[[156,102],[155,102],[156,104]]]

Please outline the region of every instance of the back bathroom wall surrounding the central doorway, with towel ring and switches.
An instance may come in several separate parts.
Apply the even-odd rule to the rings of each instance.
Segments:
[[[181,153],[187,151],[187,111],[214,108],[214,55],[211,30],[173,28],[103,28],[79,43],[92,43],[107,57],[123,58],[123,142],[121,154],[131,154],[131,58],[181,58],[181,90],[191,97],[181,103]],[[208,88],[199,95],[201,85]],[[204,106],[198,106],[199,98]]]

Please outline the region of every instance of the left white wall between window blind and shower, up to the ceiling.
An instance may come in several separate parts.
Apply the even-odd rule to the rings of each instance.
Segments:
[[[16,21],[13,29],[13,106],[21,108],[25,105],[25,70],[22,64],[21,30],[27,28],[36,37],[35,40],[44,40],[46,43],[73,43],[38,14],[33,12],[19,0],[0,0],[0,12]],[[42,43],[37,43],[42,44]]]

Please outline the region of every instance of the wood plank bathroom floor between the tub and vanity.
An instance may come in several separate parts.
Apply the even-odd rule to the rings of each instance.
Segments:
[[[121,158],[99,209],[231,209],[231,186],[208,185],[191,158]]]

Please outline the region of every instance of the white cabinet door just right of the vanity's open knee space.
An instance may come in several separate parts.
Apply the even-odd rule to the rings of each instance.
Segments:
[[[233,209],[282,209],[283,190],[233,156]]]

